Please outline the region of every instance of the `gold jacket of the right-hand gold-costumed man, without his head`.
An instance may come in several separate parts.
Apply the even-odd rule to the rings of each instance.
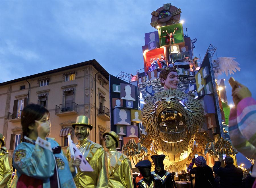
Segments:
[[[108,158],[109,187],[133,188],[132,168],[129,158],[117,150],[106,151]]]

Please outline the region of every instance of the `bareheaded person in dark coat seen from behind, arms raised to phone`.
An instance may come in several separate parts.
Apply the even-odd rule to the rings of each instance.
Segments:
[[[234,159],[226,156],[225,167],[220,167],[221,162],[217,161],[213,166],[213,172],[220,176],[220,188],[242,187],[243,171],[234,165]]]

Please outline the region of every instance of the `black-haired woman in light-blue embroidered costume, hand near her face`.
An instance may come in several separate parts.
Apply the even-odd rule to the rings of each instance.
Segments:
[[[47,138],[51,127],[49,111],[29,104],[22,110],[21,125],[24,138],[13,153],[17,187],[76,187],[73,177],[80,161],[68,162],[61,146]]]

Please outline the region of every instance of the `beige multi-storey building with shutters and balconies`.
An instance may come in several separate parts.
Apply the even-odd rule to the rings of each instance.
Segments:
[[[22,139],[21,111],[26,104],[45,106],[50,112],[49,137],[65,151],[67,135],[78,115],[90,118],[93,129],[89,139],[103,144],[102,135],[110,130],[109,74],[94,59],[0,83],[0,133],[12,156]],[[96,99],[96,101],[95,101]]]

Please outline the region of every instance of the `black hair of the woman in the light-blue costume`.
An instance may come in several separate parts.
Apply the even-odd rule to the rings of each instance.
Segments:
[[[35,123],[35,120],[40,120],[44,116],[45,113],[49,114],[49,111],[41,105],[38,104],[28,104],[24,107],[21,112],[21,125],[23,136],[28,136],[30,125]],[[49,114],[50,115],[50,114]]]

